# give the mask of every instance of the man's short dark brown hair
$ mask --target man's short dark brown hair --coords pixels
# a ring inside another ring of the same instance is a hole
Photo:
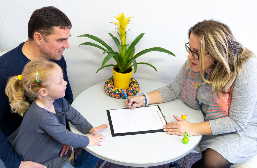
[[[33,35],[35,32],[39,32],[42,36],[53,34],[54,26],[58,26],[60,29],[71,29],[71,22],[69,18],[56,7],[46,6],[35,10],[30,16],[28,24],[29,40],[34,40]]]

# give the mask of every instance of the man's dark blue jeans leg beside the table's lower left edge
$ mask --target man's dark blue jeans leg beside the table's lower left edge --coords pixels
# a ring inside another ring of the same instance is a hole
[[[99,158],[91,155],[85,149],[82,149],[81,153],[78,155],[75,160],[74,167],[75,168],[95,168]]]

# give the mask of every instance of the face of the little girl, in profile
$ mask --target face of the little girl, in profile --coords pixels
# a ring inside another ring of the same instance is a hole
[[[65,90],[67,82],[63,80],[63,73],[61,67],[56,65],[52,70],[52,76],[49,79],[48,90],[48,99],[59,99],[65,96]]]

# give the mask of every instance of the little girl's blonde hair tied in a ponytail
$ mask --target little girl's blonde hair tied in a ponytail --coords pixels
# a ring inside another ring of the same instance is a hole
[[[25,95],[29,97],[30,101],[41,98],[38,91],[47,86],[48,79],[56,65],[55,62],[46,59],[34,59],[25,65],[21,74],[22,80],[19,80],[18,76],[8,79],[5,94],[9,98],[12,112],[23,117],[30,106],[30,103],[25,99]],[[36,71],[38,71],[40,82],[36,81]]]

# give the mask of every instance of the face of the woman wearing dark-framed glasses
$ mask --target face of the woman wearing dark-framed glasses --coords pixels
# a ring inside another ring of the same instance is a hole
[[[197,54],[200,54],[200,52],[199,52],[200,41],[199,41],[199,38],[195,34],[191,33],[188,44],[192,51],[196,52]],[[211,56],[210,56],[210,54],[207,54],[207,53],[208,53],[207,51],[204,52],[204,54],[206,54],[204,56],[204,69],[208,69],[209,67],[211,67],[213,65]],[[192,52],[190,52],[188,54],[187,58],[191,61],[192,70],[194,72],[199,72],[200,71],[200,56],[199,56],[199,59],[197,60],[192,56]]]

